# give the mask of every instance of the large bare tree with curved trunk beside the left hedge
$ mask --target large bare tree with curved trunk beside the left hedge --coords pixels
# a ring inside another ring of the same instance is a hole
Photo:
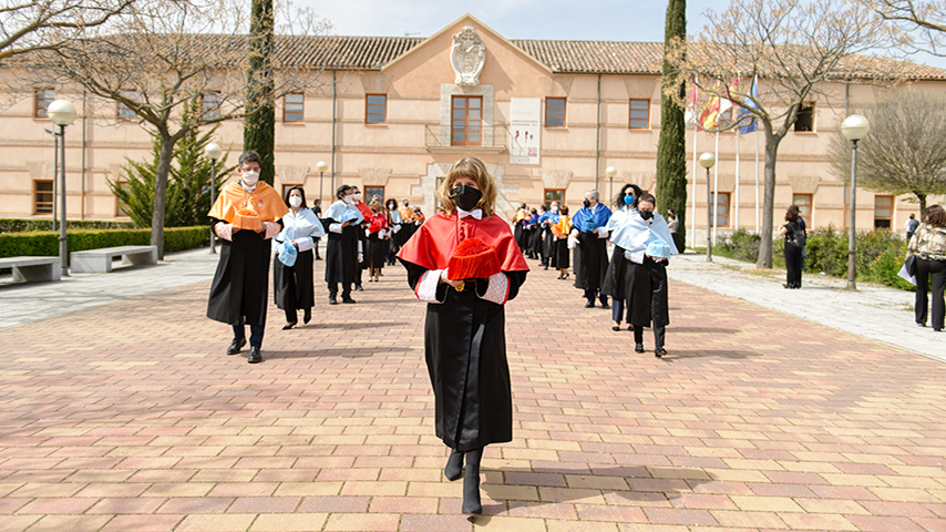
[[[202,3],[203,2],[203,3]],[[155,178],[151,243],[164,256],[167,176],[174,146],[188,132],[225,120],[243,119],[247,86],[265,88],[269,98],[302,92],[320,83],[318,51],[307,38],[329,24],[306,11],[284,12],[291,24],[273,51],[274,69],[247,78],[250,60],[248,18],[238,0],[138,0],[123,16],[123,32],[80,41],[39,54],[28,65],[45,79],[78,84],[117,102],[124,116],[157,132],[161,139]],[[224,31],[225,30],[225,31]],[[297,34],[287,34],[295,30]],[[306,47],[306,44],[309,47]],[[302,52],[316,50],[316,57]],[[183,113],[188,101],[205,112]]]

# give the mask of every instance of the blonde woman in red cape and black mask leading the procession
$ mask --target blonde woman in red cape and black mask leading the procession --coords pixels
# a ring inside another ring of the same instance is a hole
[[[465,514],[483,511],[483,449],[513,436],[503,305],[518,294],[528,266],[508,224],[493,212],[496,188],[482,161],[461,158],[436,191],[444,212],[398,254],[414,294],[428,303],[424,355],[436,436],[451,449],[443,473],[463,475]]]

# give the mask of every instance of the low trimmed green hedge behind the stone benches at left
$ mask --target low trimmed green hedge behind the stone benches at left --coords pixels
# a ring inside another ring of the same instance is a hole
[[[200,247],[209,242],[210,228],[205,225],[164,229],[165,253]],[[70,253],[102,247],[146,246],[151,244],[151,229],[70,229],[66,244]],[[58,256],[59,233],[34,231],[0,234],[0,258],[23,255]]]

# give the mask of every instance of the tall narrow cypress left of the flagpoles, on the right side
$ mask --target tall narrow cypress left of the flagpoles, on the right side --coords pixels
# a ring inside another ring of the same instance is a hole
[[[664,75],[661,89],[673,86],[677,73],[667,60],[673,38],[687,39],[687,0],[670,0],[664,27]],[[687,129],[683,110],[660,91],[660,139],[657,144],[657,202],[659,211],[672,208],[677,215],[677,239],[687,242]],[[686,83],[680,84],[680,98]]]

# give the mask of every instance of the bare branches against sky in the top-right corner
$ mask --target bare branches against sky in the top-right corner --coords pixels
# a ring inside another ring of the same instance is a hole
[[[942,0],[861,0],[904,31],[905,49],[946,57],[946,3]]]

